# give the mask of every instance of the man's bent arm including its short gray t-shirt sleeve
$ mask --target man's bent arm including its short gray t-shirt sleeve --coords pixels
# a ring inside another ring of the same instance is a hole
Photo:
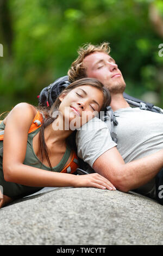
[[[108,126],[94,118],[77,132],[78,156],[118,190],[134,190],[154,178],[163,167],[163,149],[125,163],[112,141]]]

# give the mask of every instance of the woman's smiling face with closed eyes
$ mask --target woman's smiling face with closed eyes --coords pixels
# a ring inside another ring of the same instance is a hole
[[[74,124],[75,128],[95,117],[103,105],[103,93],[92,86],[79,86],[68,93],[63,93],[59,99],[59,112],[64,120],[68,124]]]

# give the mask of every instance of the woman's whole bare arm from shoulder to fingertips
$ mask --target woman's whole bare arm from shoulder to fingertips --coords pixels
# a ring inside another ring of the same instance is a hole
[[[25,164],[28,131],[36,110],[28,103],[20,103],[12,109],[5,120],[3,142],[4,179],[35,187],[98,187],[112,189],[114,186],[99,174],[73,175],[48,172]],[[111,188],[110,188],[111,187]]]

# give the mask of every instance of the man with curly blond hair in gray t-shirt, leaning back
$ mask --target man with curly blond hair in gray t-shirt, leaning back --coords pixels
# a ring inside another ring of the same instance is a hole
[[[163,115],[129,106],[123,97],[126,83],[109,52],[108,43],[86,45],[68,70],[70,82],[93,77],[110,90],[110,106],[118,122],[117,144],[110,136],[110,120],[104,123],[94,118],[93,127],[99,121],[100,127],[91,129],[89,122],[87,129],[78,131],[78,156],[118,190],[156,198],[155,176],[163,167]]]

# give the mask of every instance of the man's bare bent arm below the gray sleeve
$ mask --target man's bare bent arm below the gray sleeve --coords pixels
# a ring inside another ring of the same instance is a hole
[[[98,157],[93,169],[123,192],[134,190],[154,178],[163,167],[163,150],[129,163],[124,163],[117,148]]]

